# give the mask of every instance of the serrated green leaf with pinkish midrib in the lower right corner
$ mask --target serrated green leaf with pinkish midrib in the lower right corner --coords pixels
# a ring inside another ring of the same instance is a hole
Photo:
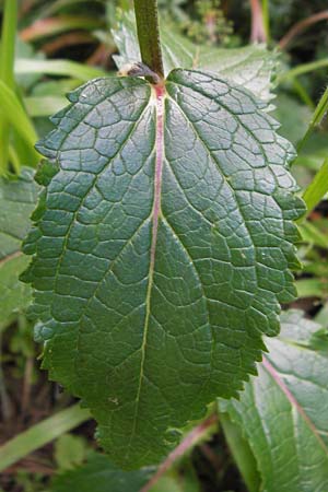
[[[249,441],[263,492],[328,490],[328,352],[319,326],[298,311],[284,313],[281,333],[241,399],[220,400]]]

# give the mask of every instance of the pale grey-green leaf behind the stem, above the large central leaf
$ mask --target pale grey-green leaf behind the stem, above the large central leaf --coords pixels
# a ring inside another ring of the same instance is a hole
[[[134,15],[121,14],[117,30],[113,30],[119,55],[114,56],[117,67],[141,60]],[[197,46],[172,28],[161,30],[162,51],[165,73],[176,68],[203,69],[224,77],[232,83],[243,85],[263,101],[270,101],[270,80],[277,55],[269,52],[265,45],[243,48],[210,48]]]

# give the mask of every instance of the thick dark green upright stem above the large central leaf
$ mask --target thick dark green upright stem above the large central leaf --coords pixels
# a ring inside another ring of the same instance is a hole
[[[156,0],[134,0],[141,60],[160,78],[164,77]]]

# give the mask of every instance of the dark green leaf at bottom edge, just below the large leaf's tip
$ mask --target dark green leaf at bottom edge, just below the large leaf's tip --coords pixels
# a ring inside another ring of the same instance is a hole
[[[106,456],[92,453],[85,465],[55,477],[51,492],[139,492],[149,476],[148,470],[121,471]]]

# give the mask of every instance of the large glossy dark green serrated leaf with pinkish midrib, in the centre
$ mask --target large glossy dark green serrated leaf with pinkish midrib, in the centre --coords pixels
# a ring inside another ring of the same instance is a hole
[[[279,330],[304,211],[294,152],[263,103],[198,71],[98,79],[70,101],[38,145],[52,167],[25,280],[44,367],[91,408],[113,460],[141,467],[236,395]]]

